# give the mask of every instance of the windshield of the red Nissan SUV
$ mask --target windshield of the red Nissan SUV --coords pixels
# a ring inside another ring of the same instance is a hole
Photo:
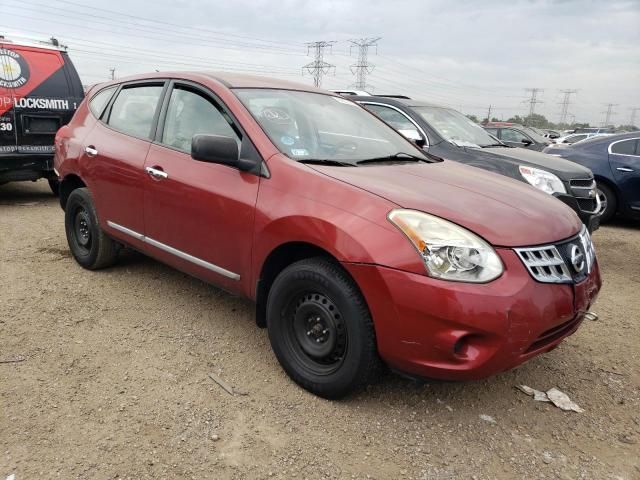
[[[264,88],[234,92],[273,144],[294,160],[346,166],[384,158],[430,161],[391,127],[345,98]]]

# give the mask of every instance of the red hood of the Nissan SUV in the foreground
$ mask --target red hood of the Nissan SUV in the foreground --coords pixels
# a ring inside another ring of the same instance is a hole
[[[582,226],[573,210],[551,195],[502,175],[448,160],[312,168],[402,208],[462,225],[496,246],[552,243],[577,234]]]

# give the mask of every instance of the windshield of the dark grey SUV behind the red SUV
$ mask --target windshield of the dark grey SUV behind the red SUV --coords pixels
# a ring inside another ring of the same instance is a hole
[[[499,144],[480,125],[460,112],[443,107],[412,107],[445,140],[460,147],[486,147]]]

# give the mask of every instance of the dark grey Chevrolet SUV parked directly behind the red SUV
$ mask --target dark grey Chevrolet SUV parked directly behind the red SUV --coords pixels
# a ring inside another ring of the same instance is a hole
[[[509,147],[451,108],[406,97],[349,98],[419,143],[425,151],[531,184],[573,208],[591,231],[598,228],[596,184],[588,169],[539,152]]]

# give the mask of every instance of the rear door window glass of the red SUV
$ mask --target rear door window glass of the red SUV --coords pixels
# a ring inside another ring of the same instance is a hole
[[[150,139],[162,85],[141,85],[120,90],[107,124],[134,137]]]

